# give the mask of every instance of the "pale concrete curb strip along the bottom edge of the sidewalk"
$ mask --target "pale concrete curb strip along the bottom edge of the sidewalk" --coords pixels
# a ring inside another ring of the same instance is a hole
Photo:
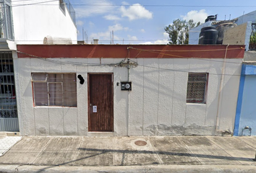
[[[9,172],[256,172],[256,166],[246,165],[159,165],[159,166],[124,166],[124,167],[59,167],[30,165],[1,165],[0,173]]]

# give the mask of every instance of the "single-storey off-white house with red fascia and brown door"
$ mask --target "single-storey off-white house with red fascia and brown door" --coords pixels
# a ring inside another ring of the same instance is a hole
[[[243,45],[17,45],[22,136],[233,132]]]

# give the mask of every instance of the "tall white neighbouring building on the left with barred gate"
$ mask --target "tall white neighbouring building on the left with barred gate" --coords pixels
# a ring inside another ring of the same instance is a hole
[[[69,1],[0,0],[0,131],[19,131],[12,58],[16,45],[77,44],[74,10],[65,3]]]

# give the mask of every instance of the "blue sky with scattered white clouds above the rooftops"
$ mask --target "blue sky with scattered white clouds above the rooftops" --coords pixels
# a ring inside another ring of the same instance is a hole
[[[114,44],[167,44],[164,28],[174,19],[205,22],[209,15],[216,14],[217,20],[234,19],[256,10],[255,0],[69,1],[76,12],[77,39],[88,40],[89,44],[93,39],[110,44],[112,31]]]

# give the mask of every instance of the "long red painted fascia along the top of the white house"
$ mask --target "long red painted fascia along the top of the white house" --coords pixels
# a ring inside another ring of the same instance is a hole
[[[18,58],[244,58],[244,45],[17,45],[17,53]]]

